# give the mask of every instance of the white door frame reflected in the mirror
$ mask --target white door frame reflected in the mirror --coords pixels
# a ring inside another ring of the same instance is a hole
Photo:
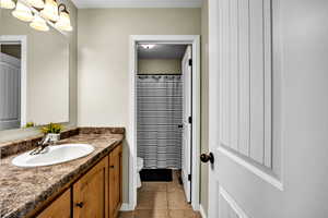
[[[26,125],[27,117],[27,36],[1,35],[0,44],[21,45],[21,128]]]

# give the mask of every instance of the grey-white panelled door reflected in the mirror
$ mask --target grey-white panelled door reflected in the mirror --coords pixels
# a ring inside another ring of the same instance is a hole
[[[0,130],[21,125],[21,60],[0,52]]]

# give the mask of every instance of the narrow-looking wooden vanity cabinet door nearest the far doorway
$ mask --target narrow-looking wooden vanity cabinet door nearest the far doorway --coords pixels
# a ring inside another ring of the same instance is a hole
[[[121,145],[109,154],[109,218],[116,218],[121,206]]]

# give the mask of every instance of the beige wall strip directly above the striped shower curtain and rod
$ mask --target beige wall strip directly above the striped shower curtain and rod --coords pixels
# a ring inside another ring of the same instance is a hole
[[[139,59],[138,73],[142,74],[180,74],[179,59]]]

